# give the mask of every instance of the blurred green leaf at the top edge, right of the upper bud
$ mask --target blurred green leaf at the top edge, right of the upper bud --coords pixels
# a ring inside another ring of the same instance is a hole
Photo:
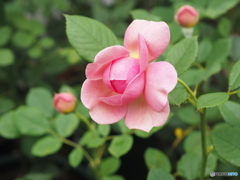
[[[226,13],[229,9],[233,8],[239,1],[238,0],[211,0],[208,1],[208,7],[205,10],[205,16],[216,19],[220,15]]]

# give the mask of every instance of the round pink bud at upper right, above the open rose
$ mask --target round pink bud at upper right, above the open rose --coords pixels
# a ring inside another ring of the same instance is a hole
[[[189,5],[180,7],[175,15],[175,21],[183,27],[192,27],[197,24],[199,14],[197,10]]]

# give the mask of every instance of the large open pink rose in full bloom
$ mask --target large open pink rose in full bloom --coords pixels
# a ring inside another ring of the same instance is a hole
[[[168,62],[151,62],[167,48],[165,22],[133,21],[123,46],[100,51],[86,68],[81,99],[99,124],[125,119],[130,129],[149,132],[169,115],[168,93],[177,83],[177,72]]]

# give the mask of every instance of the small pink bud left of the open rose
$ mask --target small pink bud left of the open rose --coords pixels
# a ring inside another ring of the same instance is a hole
[[[53,105],[60,113],[69,113],[74,111],[76,106],[76,97],[68,92],[55,94]]]

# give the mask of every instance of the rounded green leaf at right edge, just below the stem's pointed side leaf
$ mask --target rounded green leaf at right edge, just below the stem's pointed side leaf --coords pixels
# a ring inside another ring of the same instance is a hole
[[[223,119],[231,126],[240,127],[240,104],[227,101],[219,107]]]

